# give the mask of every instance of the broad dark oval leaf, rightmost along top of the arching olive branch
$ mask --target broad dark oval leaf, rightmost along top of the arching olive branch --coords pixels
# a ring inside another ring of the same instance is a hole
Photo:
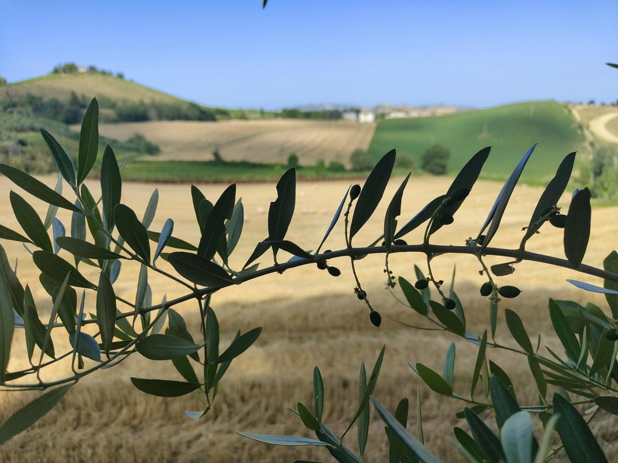
[[[590,238],[590,213],[590,191],[584,188],[571,199],[564,224],[564,254],[574,267],[582,263],[586,253]]]

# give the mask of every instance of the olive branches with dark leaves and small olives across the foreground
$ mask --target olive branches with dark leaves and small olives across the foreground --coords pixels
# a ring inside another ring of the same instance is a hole
[[[242,269],[234,270],[229,265],[229,256],[234,252],[243,230],[243,206],[240,199],[236,199],[236,186],[228,186],[214,202],[206,199],[197,187],[192,186],[192,204],[201,231],[197,245],[178,237],[172,219],[167,219],[160,231],[150,230],[156,214],[158,190],[153,192],[140,219],[135,211],[122,202],[121,171],[124,165],[118,164],[110,146],[104,149],[101,161],[101,198],[96,199],[83,183],[98,158],[97,123],[98,105],[93,100],[82,122],[77,165],[61,144],[48,131],[41,129],[41,136],[59,171],[59,180],[54,189],[25,172],[0,164],[0,173],[49,205],[46,217],[41,220],[26,199],[11,191],[9,200],[24,234],[0,225],[0,238],[21,241],[32,252],[32,259],[41,272],[40,284],[53,303],[51,315],[43,323],[32,297],[32,282],[25,286],[20,282],[17,262],[11,265],[4,248],[0,246],[0,385],[6,391],[46,390],[0,426],[0,443],[9,440],[49,412],[82,377],[99,369],[114,367],[136,352],[152,361],[171,361],[184,381],[136,377],[131,378],[133,385],[143,393],[155,396],[197,394],[203,407],[198,411],[187,411],[186,415],[190,419],[199,419],[211,409],[216,396],[222,393],[219,391],[221,381],[231,362],[250,348],[261,333],[261,327],[246,333],[239,331],[231,344],[221,346],[219,322],[211,306],[214,293],[253,278],[282,273],[301,265],[316,265],[320,270],[327,270],[332,277],[339,277],[341,270],[331,264],[332,259],[349,257],[355,280],[355,297],[365,302],[370,322],[379,327],[382,316],[371,304],[368,293],[363,290],[356,265],[368,254],[384,254],[387,289],[397,297],[394,290],[399,285],[405,299],[402,303],[410,307],[410,313],[425,324],[402,323],[411,329],[440,330],[478,346],[469,394],[468,391],[459,390],[459,383],[458,391],[455,392],[455,344],[447,349],[442,375],[421,362],[409,364],[412,372],[431,390],[464,403],[464,409],[457,416],[465,419],[469,432],[455,427],[452,441],[468,461],[540,463],[548,461],[564,448],[567,457],[573,462],[607,462],[588,424],[598,414],[618,414],[618,254],[613,251],[607,256],[604,269],[582,264],[590,235],[590,191],[587,188],[574,192],[567,214],[563,214],[557,207],[557,201],[564,193],[572,173],[575,153],[564,158],[541,195],[528,226],[523,229],[525,233],[518,249],[491,248],[489,244],[499,230],[510,196],[535,146],[524,154],[507,179],[478,235],[465,240],[462,246],[438,246],[430,240],[433,233],[454,222],[455,213],[470,194],[488,159],[489,148],[481,149],[468,161],[446,193],[430,201],[404,225],[399,225],[397,218],[410,179],[408,173],[389,202],[384,216],[383,235],[369,246],[354,247],[353,240],[374,215],[391,178],[396,164],[396,152],[388,152],[375,165],[362,188],[360,185],[352,185],[345,191],[315,252],[306,251],[304,247],[286,240],[295,210],[296,173],[291,168],[277,183],[277,199],[271,202],[268,211],[268,236],[256,244]],[[62,196],[65,185],[74,193],[74,202]],[[59,207],[72,211],[70,227],[65,227],[56,218]],[[345,248],[321,252],[342,216]],[[567,259],[525,250],[527,241],[546,222],[564,228],[564,252]],[[407,244],[404,236],[421,225],[425,225],[423,242]],[[67,228],[70,230],[68,235]],[[52,238],[49,236],[50,229]],[[156,246],[151,246],[151,241]],[[59,254],[61,250],[63,255],[68,253],[71,256],[69,260]],[[267,251],[272,252],[274,265],[259,269],[259,264],[255,262]],[[291,254],[291,257],[282,261],[281,251]],[[425,254],[427,274],[415,265],[415,283],[408,282],[403,276],[395,277],[389,267],[389,255],[393,252]],[[454,291],[455,271],[448,293],[444,291],[444,282],[433,273],[432,260],[448,253],[475,257],[481,274],[488,279],[480,288],[481,297],[488,298],[489,302],[489,328],[483,330],[483,333],[468,330],[464,307]],[[493,265],[490,269],[484,261],[487,255],[504,256],[512,260]],[[167,261],[175,273],[167,272],[164,265],[159,265],[161,259]],[[127,261],[140,264],[134,301],[120,298],[114,291],[122,262]],[[510,335],[519,348],[497,343],[494,335],[497,318],[501,314],[499,302],[501,298],[517,297],[520,290],[499,284],[496,277],[510,275],[522,261],[543,262],[603,278],[603,287],[577,280],[569,282],[582,290],[606,294],[612,317],[605,315],[594,304],[583,307],[570,301],[549,299],[549,317],[564,352],[553,352],[547,348],[549,356],[544,354],[541,351],[540,336],[535,347],[522,320],[516,312],[509,310],[504,311],[504,317]],[[97,284],[83,276],[91,272],[83,269],[90,267],[99,273]],[[149,275],[153,272],[185,286],[187,294],[170,301],[164,298],[160,303],[153,302],[148,284]],[[437,296],[431,293],[430,285]],[[85,307],[87,291],[96,295],[93,309]],[[200,317],[199,333],[188,332],[183,317],[173,309],[176,304],[185,301],[194,301],[196,304],[196,315]],[[128,307],[128,310],[121,311],[122,307]],[[95,335],[87,333],[85,327],[88,325],[94,325],[98,332]],[[25,346],[12,343],[15,330],[21,329],[25,330]],[[66,330],[72,346],[70,351],[56,351],[51,336],[54,329],[61,332]],[[7,366],[11,354],[19,348],[25,349],[32,366],[9,371]],[[488,359],[488,349],[504,349],[527,361],[538,388],[536,403],[520,404],[509,375]],[[360,463],[365,454],[370,405],[373,404],[386,424],[390,462],[439,462],[438,457],[423,443],[420,396],[417,396],[416,403],[415,435],[407,430],[407,398],[402,399],[394,414],[391,414],[374,397],[385,352],[386,348],[383,347],[369,376],[365,365],[361,365],[358,407],[341,435],[332,432],[323,421],[326,406],[324,381],[318,367],[313,371],[313,403],[310,406],[298,403],[297,409],[292,410],[292,414],[302,420],[305,427],[315,432],[316,439],[248,432],[239,432],[240,435],[267,444],[315,445],[324,448],[339,462]],[[72,374],[66,378],[44,381],[42,373],[46,367],[63,359],[70,359]],[[27,377],[32,375],[35,375],[36,381],[28,383]],[[576,408],[580,405],[587,407],[584,416]],[[487,414],[494,415],[499,434],[486,424]],[[533,419],[543,423],[544,433],[540,440],[533,434]],[[357,429],[358,451],[344,444],[345,436],[354,425]],[[554,430],[562,443],[551,448]]]

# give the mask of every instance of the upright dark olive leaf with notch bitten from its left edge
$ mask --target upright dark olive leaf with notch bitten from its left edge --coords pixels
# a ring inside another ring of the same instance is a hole
[[[268,209],[268,241],[282,241],[286,237],[287,228],[292,222],[296,204],[296,169],[284,173],[277,182],[277,199],[271,202]],[[276,256],[277,247],[273,246]]]

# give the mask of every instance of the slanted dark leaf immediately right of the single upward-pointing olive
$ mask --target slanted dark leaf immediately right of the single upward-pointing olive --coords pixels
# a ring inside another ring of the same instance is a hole
[[[363,189],[358,196],[352,223],[350,224],[350,241],[358,233],[363,225],[369,220],[373,212],[378,207],[380,199],[384,194],[389,178],[391,178],[392,167],[395,164],[396,152],[394,149],[384,154],[378,164],[371,170],[369,177],[363,185]]]

